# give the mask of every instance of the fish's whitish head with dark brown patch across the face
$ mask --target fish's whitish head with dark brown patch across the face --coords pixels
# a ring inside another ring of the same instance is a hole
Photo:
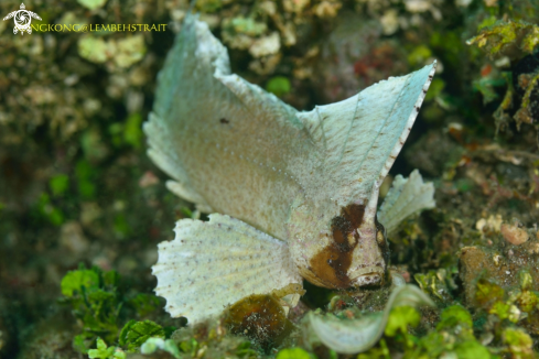
[[[327,289],[384,284],[389,250],[384,226],[362,204],[341,207],[333,216],[313,216],[309,206],[297,208],[289,235],[300,274]]]

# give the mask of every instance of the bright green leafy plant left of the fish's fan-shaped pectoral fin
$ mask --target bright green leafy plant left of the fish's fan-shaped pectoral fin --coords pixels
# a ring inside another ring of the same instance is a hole
[[[121,350],[136,351],[148,338],[165,338],[175,329],[163,328],[151,320],[126,320],[128,315],[141,318],[150,314],[160,306],[160,301],[149,294],[126,296],[119,284],[120,276],[116,271],[84,265],[62,280],[64,296],[61,302],[72,307],[82,326],[82,333],[73,339],[73,347],[90,358],[120,359]],[[120,330],[122,322],[127,324]],[[97,349],[91,350],[94,344]],[[118,350],[111,346],[115,344]]]

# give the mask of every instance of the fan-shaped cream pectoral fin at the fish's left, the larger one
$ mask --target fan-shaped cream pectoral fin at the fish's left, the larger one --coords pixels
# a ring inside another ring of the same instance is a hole
[[[235,302],[300,283],[288,244],[238,219],[182,219],[173,241],[159,244],[155,293],[166,311],[191,324],[218,315]]]

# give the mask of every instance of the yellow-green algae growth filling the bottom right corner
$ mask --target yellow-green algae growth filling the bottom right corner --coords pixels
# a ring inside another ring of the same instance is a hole
[[[388,350],[400,348],[402,358],[528,358],[539,327],[539,296],[531,291],[531,275],[518,273],[520,289],[506,293],[499,285],[481,279],[476,283],[476,313],[460,304],[443,309],[425,335],[410,330],[428,316],[409,306],[391,311],[385,336],[358,359],[390,358]],[[481,334],[481,335],[478,335]]]

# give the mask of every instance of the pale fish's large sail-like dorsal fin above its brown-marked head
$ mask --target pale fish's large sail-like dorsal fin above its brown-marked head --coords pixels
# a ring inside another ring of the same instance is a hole
[[[344,101],[298,112],[233,75],[226,48],[188,15],[159,75],[150,155],[201,208],[235,216],[284,239],[294,200],[333,216],[364,204],[402,148],[434,64]]]

